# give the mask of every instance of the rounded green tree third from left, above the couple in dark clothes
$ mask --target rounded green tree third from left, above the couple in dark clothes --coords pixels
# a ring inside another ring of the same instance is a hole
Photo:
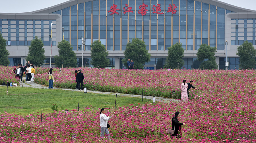
[[[55,66],[56,67],[62,67],[63,68],[74,68],[77,66],[77,56],[76,53],[72,50],[71,44],[69,41],[66,41],[65,39],[60,41],[58,43],[59,48],[59,56],[55,55]]]

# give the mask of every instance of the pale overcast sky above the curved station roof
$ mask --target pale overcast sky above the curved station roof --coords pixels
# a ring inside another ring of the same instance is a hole
[[[21,13],[51,7],[67,0],[0,0],[0,13]],[[245,9],[256,10],[255,0],[219,0]]]

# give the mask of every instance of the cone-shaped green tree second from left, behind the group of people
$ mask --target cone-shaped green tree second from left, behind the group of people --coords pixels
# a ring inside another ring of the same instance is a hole
[[[30,46],[28,47],[28,56],[25,58],[26,61],[30,61],[35,66],[41,66],[44,64],[45,60],[45,51],[44,51],[43,41],[37,38],[31,41]]]

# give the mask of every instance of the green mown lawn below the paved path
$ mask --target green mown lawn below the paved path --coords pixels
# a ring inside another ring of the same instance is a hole
[[[110,108],[115,106],[115,95],[84,93],[78,91],[67,91],[61,89],[36,89],[27,87],[0,87],[0,112],[15,113],[17,115],[28,115],[32,113],[53,112],[53,104],[58,110],[84,109],[87,107]],[[152,100],[144,99],[144,103]],[[142,103],[142,98],[126,97],[117,94],[117,107],[127,104]],[[62,108],[61,108],[62,107]]]

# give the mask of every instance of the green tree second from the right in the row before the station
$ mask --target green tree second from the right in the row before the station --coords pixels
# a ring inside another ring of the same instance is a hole
[[[199,69],[217,69],[218,65],[215,61],[214,56],[216,52],[216,47],[210,47],[209,45],[202,44],[197,51],[197,58],[199,61],[203,61]],[[205,61],[204,61],[205,60]]]

